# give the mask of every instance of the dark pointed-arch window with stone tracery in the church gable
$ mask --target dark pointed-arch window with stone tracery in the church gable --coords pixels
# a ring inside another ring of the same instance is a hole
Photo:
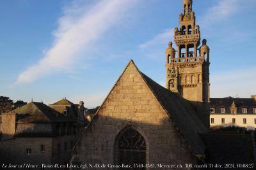
[[[145,167],[133,167],[133,164],[146,163],[146,150],[147,145],[140,132],[132,127],[124,129],[118,134],[115,141],[115,163],[130,164],[131,169],[145,169]]]

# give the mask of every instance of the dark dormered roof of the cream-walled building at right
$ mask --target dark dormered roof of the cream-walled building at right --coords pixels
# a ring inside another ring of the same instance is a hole
[[[253,98],[211,98],[210,105],[213,107],[230,107],[232,103],[236,104],[236,107],[255,107],[256,101]]]

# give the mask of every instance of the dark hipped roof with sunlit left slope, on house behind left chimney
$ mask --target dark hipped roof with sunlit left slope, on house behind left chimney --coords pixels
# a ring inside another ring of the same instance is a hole
[[[70,122],[70,119],[44,103],[31,102],[14,110],[17,123]]]

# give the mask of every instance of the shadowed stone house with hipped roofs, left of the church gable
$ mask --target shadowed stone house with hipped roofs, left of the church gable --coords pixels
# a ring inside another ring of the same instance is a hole
[[[67,103],[66,112],[56,111],[58,106]],[[71,149],[83,132],[84,109],[83,102],[73,104],[63,99],[51,107],[31,102],[10,113],[2,113],[0,162],[67,164]]]

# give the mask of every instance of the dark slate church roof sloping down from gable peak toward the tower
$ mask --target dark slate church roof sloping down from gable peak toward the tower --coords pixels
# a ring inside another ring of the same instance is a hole
[[[133,64],[136,67],[133,60],[130,60],[130,62],[125,67],[123,73],[120,75],[115,85],[110,90],[109,94],[111,94],[111,91],[115,88],[116,84],[118,83],[118,81],[125,73],[127,67],[129,67],[130,64]],[[188,142],[188,145],[191,146],[192,151],[195,154],[204,154],[204,142],[202,141],[198,133],[206,132],[207,128],[204,126],[204,124],[202,124],[199,117],[197,116],[195,109],[191,106],[189,101],[157,84],[155,81],[148,78],[148,76],[141,73],[138,67],[136,67],[136,70],[138,71],[138,73],[140,73],[141,77],[143,78],[151,92],[154,94],[157,101],[159,101],[161,106],[163,106],[163,109],[166,111],[170,119],[173,120],[173,123],[177,125],[177,129],[179,129],[180,134]],[[106,97],[106,99],[108,99],[108,96]],[[104,105],[106,99],[104,100],[100,108]],[[99,112],[99,110],[97,111],[97,113]],[[97,113],[95,114],[96,116]]]

